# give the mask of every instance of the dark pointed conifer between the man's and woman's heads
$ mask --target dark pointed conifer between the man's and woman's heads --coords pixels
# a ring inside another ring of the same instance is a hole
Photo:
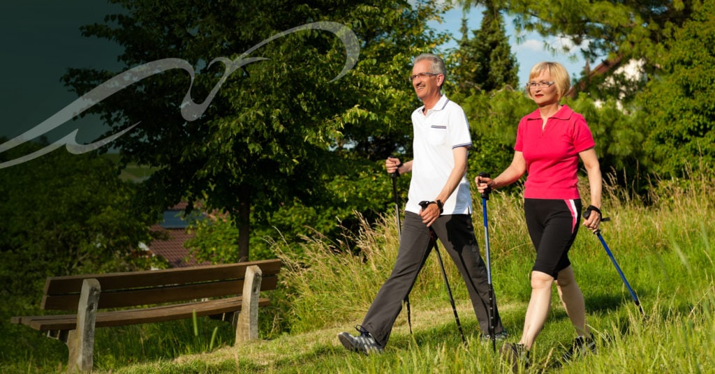
[[[468,38],[466,19],[462,20],[462,39],[453,52],[456,65],[453,80],[460,92],[468,93],[472,88],[490,92],[505,85],[518,86],[519,65],[511,53],[501,11],[493,1],[486,1],[485,6],[480,29],[473,31],[472,39]]]

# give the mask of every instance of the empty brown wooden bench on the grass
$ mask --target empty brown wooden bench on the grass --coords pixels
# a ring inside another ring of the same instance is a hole
[[[258,307],[275,290],[280,260],[230,265],[48,277],[41,308],[73,314],[11,318],[69,347],[68,371],[92,370],[94,328],[197,316],[237,325],[236,343],[258,338]],[[242,312],[242,313],[239,313]]]

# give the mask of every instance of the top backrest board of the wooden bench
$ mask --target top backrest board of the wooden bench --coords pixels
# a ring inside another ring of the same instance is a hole
[[[179,269],[142,270],[137,272],[111,272],[106,274],[67,275],[48,277],[44,293],[49,295],[79,292],[82,280],[94,278],[102,285],[102,292],[134,287],[159,287],[189,282],[242,279],[246,267],[258,265],[264,277],[277,275],[281,260],[260,260],[227,265],[182,267]]]

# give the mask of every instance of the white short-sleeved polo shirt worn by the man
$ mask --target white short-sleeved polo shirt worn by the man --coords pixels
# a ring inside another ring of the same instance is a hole
[[[432,109],[423,113],[419,107],[412,113],[414,127],[412,179],[405,210],[419,213],[419,203],[434,200],[447,184],[454,168],[453,149],[472,147],[469,123],[462,107],[445,95]],[[444,215],[471,214],[472,198],[467,175],[444,202]]]

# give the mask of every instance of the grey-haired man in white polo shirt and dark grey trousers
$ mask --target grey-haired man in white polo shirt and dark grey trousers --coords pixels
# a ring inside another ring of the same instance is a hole
[[[437,237],[460,271],[483,338],[488,338],[490,289],[474,236],[472,201],[466,178],[472,141],[462,108],[441,93],[445,78],[445,64],[440,57],[420,54],[415,58],[410,80],[424,104],[412,114],[415,157],[405,163],[395,158],[385,161],[390,174],[412,172],[398,257],[363,324],[357,327],[360,335],[338,335],[340,343],[349,350],[365,354],[383,352],[402,310],[402,301],[412,290],[430,255],[432,240]],[[506,331],[496,307],[494,314],[495,338],[502,340],[506,338]]]

